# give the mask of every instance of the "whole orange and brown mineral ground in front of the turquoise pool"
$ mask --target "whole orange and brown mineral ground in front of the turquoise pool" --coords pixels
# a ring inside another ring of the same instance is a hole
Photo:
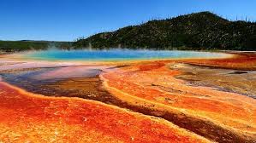
[[[3,64],[0,72],[15,69],[9,77],[21,71],[24,76],[40,67],[36,63],[16,64],[18,67]],[[66,64],[33,76],[28,74],[42,83],[54,77],[62,79],[46,85],[33,84],[33,88],[25,86],[29,91],[40,94],[42,90],[34,89],[50,88],[50,92],[42,93],[67,97],[44,97],[0,82],[0,141],[255,142],[255,54],[107,66]],[[95,76],[98,71],[101,73]],[[21,79],[15,78],[17,86],[22,84]]]

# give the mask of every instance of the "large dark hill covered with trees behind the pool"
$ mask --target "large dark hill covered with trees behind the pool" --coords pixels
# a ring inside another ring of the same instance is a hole
[[[98,33],[77,40],[74,47],[256,50],[256,23],[200,12]]]

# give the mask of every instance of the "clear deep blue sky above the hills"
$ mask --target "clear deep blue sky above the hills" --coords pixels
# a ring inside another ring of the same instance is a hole
[[[0,0],[0,40],[74,41],[200,11],[256,20],[255,8],[256,0]]]

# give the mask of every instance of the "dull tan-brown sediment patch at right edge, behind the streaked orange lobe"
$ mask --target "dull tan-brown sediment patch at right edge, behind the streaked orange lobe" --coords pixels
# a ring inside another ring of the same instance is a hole
[[[176,76],[193,86],[208,86],[256,98],[256,72],[214,69],[186,64],[170,66],[182,74]]]

